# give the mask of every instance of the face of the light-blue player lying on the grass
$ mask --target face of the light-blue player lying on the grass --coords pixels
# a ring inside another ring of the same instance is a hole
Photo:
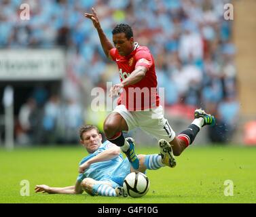
[[[81,144],[86,148],[88,153],[94,153],[94,151],[98,150],[101,145],[102,136],[98,134],[95,129],[89,130],[88,132],[84,132],[83,140],[80,140]]]

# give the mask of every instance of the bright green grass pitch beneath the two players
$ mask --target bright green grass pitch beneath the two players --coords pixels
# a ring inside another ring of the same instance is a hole
[[[158,149],[137,146],[136,153]],[[81,146],[0,149],[0,203],[256,203],[256,147],[242,146],[189,147],[174,169],[148,170],[150,189],[139,199],[34,193],[35,184],[73,185],[84,155]],[[22,180],[29,196],[20,195]],[[234,183],[233,196],[224,195],[225,180]]]

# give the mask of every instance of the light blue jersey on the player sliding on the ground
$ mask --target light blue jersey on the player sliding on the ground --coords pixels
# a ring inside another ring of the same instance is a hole
[[[102,153],[103,151],[109,149],[110,147],[115,146],[115,144],[105,141],[97,151],[94,153],[91,153],[87,157],[84,157],[79,165],[82,163],[88,161],[88,159],[91,159],[92,157]],[[93,178],[94,180],[104,180],[104,179],[112,179],[113,171],[116,170],[117,167],[120,167],[120,165],[123,163],[123,157],[122,154],[118,155],[117,157],[109,160],[109,161],[100,161],[98,163],[92,163],[90,167],[88,167],[84,174],[79,174],[77,176],[77,180],[80,182],[84,180],[84,178]],[[130,168],[129,168],[130,170]]]

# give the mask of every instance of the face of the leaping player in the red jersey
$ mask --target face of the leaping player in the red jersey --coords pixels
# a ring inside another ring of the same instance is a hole
[[[133,37],[126,38],[125,33],[113,35],[113,43],[121,56],[128,56],[133,51]]]

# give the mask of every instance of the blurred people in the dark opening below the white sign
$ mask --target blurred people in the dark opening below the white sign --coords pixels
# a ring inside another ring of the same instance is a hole
[[[43,89],[39,92],[46,94]],[[77,143],[78,129],[84,123],[81,106],[71,98],[61,102],[57,95],[50,96],[42,106],[38,102],[38,96],[31,96],[21,106],[16,141],[19,144]]]

